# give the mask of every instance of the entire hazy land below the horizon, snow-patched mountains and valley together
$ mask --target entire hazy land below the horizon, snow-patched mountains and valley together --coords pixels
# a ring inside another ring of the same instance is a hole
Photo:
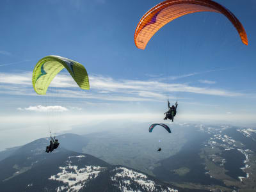
[[[255,129],[172,124],[172,134],[156,129],[58,139],[60,147],[49,154],[48,138],[0,152],[0,191],[256,190]]]

